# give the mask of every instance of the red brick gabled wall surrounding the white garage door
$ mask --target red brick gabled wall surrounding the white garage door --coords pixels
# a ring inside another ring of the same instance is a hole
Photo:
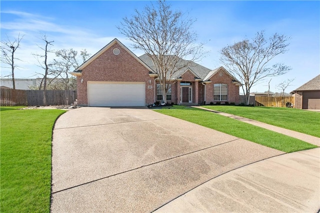
[[[120,49],[119,55],[112,53],[115,47]],[[154,102],[154,78],[149,77],[149,71],[118,43],[83,68],[82,76],[77,76],[79,105],[87,105],[88,81],[145,82],[145,104]],[[152,89],[148,89],[148,86],[152,86]]]

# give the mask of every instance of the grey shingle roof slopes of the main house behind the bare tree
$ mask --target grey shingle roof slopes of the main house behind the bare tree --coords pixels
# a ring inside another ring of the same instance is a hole
[[[153,65],[153,62],[151,60],[151,58],[147,55],[147,54],[143,54],[139,57],[144,63],[146,63],[151,69],[155,70],[155,67]],[[188,60],[184,60],[182,58],[179,58],[179,62],[177,63],[177,65],[181,65],[182,67],[184,65],[187,65],[185,67],[183,67],[181,70],[175,72],[172,75],[172,78],[179,78],[182,74],[184,74],[186,71],[190,71],[192,72],[195,77],[198,77],[200,79],[203,79],[211,70],[201,66],[200,64],[197,64],[193,61],[188,61]]]

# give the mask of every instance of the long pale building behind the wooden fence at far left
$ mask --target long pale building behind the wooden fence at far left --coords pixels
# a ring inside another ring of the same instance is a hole
[[[23,89],[28,90],[30,86],[39,85],[41,82],[40,78],[15,78],[14,84],[15,89]],[[13,89],[12,78],[1,78],[0,86],[8,87],[9,89]]]

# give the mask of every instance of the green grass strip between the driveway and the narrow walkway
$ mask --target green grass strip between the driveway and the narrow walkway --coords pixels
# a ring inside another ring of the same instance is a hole
[[[175,105],[170,109],[154,111],[287,153],[317,147],[289,136],[201,109]]]

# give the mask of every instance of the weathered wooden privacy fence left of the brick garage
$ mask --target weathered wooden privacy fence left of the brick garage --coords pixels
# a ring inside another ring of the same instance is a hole
[[[71,105],[75,90],[46,90],[46,105]],[[43,106],[43,90],[0,89],[0,106]]]

